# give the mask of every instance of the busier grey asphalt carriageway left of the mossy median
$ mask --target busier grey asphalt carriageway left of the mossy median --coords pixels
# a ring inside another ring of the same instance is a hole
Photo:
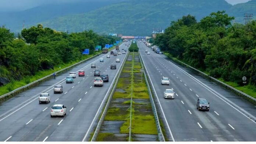
[[[128,50],[124,44],[120,45]],[[115,50],[113,50],[115,51]],[[68,72],[57,75],[56,79],[47,80],[36,87],[28,89],[0,105],[0,141],[82,141],[89,140],[90,133],[97,124],[98,116],[107,99],[106,93],[126,54],[117,56],[101,54],[83,64],[70,69]],[[99,62],[104,58],[104,62]],[[120,63],[115,62],[120,58]],[[96,68],[90,64],[96,63]],[[114,63],[117,69],[110,69]],[[109,75],[109,82],[104,82],[103,87],[94,87],[95,78],[93,70],[99,69],[101,74]],[[65,83],[69,72],[85,71],[84,77],[74,79],[74,83]],[[53,86],[61,84],[62,94],[54,94]],[[39,104],[38,95],[49,93],[51,102]],[[50,110],[54,104],[64,104],[67,115],[50,117]]]

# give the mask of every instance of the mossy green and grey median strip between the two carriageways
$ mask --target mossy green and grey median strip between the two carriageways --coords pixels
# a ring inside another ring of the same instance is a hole
[[[129,141],[130,120],[131,141],[158,140],[156,122],[141,68],[138,52],[130,52],[97,141]]]

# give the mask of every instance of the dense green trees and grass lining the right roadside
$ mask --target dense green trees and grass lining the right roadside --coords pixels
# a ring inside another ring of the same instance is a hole
[[[154,44],[177,58],[256,98],[256,21],[232,22],[225,11],[213,12],[199,22],[187,15],[171,22]],[[246,76],[246,86],[242,77]]]

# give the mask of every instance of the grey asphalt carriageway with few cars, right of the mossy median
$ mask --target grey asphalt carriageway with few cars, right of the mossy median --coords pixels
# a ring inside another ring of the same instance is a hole
[[[144,43],[137,44],[169,141],[256,141],[254,105],[154,53]],[[170,79],[170,86],[161,85],[163,76]],[[166,89],[174,90],[175,99],[164,99]],[[210,102],[209,112],[196,109],[199,97]]]

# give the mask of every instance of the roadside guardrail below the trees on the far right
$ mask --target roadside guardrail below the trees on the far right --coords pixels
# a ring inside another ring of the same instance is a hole
[[[218,82],[218,83],[220,83],[220,84],[223,84],[224,86],[228,87],[229,89],[234,90],[235,92],[241,94],[242,96],[245,96],[245,97],[247,97],[247,98],[249,98],[249,99],[251,99],[251,100],[253,100],[253,101],[256,102],[256,98],[253,98],[252,96],[249,96],[248,94],[243,93],[242,91],[240,91],[240,90],[238,90],[238,89],[235,89],[234,87],[232,87],[232,86],[230,86],[230,85],[228,85],[228,84],[226,84],[226,83],[224,83],[224,82],[221,82],[220,80],[218,80],[218,79],[216,79],[216,78],[213,78],[213,77],[207,75],[206,73],[201,72],[201,71],[199,71],[198,69],[193,68],[192,66],[185,64],[185,63],[182,62],[182,61],[179,61],[179,60],[177,60],[176,58],[171,57],[171,59],[174,60],[174,61],[178,61],[179,63],[181,63],[181,64],[183,64],[183,65],[185,65],[185,66],[188,66],[189,68],[191,68],[191,69],[193,69],[193,70],[195,70],[195,71],[201,73],[202,75],[205,75],[206,77],[210,78],[211,80],[214,80],[214,81],[216,81],[216,82]]]

